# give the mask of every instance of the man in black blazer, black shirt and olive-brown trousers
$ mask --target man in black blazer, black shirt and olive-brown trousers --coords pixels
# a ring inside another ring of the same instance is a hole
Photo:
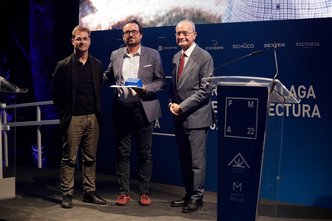
[[[88,54],[90,31],[76,26],[71,42],[74,53],[59,61],[53,73],[51,96],[60,111],[63,134],[61,190],[63,208],[72,208],[74,167],[80,142],[83,142],[83,202],[106,204],[95,186],[96,151],[101,126],[100,93],[103,64]]]

